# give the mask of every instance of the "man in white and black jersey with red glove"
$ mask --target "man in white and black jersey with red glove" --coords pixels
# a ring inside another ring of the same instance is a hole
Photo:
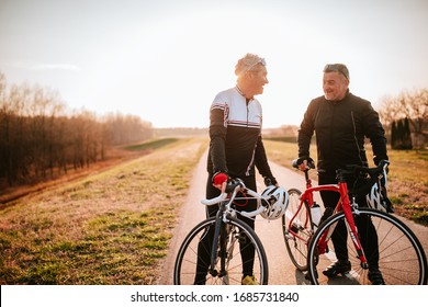
[[[261,138],[262,111],[255,95],[263,92],[268,83],[266,61],[258,55],[247,54],[235,67],[236,87],[219,92],[210,110],[210,152],[207,159],[209,180],[206,198],[218,196],[229,177],[241,179],[245,184],[256,191],[256,170],[267,182],[278,185],[272,175]],[[256,201],[240,206],[241,211],[255,211]],[[206,207],[207,217],[215,216],[216,206]],[[255,221],[240,216],[252,229]],[[212,229],[214,230],[214,229]],[[199,259],[210,259],[207,245],[212,234],[201,240]],[[254,248],[240,247],[244,272],[241,283],[257,284],[254,277]],[[195,284],[204,284],[210,261],[198,261]]]

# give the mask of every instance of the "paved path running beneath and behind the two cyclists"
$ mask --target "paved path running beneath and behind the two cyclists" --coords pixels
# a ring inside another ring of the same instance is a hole
[[[279,183],[285,189],[297,187],[304,190],[305,183],[301,173],[270,162],[272,172]],[[193,180],[189,190],[189,200],[181,208],[179,220],[174,229],[174,237],[171,239],[170,250],[162,268],[161,276],[157,281],[159,285],[172,284],[173,263],[177,251],[180,248],[185,235],[202,219],[205,218],[205,207],[200,203],[204,198],[206,183],[206,155],[202,157],[194,170]],[[315,182],[316,184],[316,182]],[[264,185],[258,179],[258,191],[262,191]],[[406,224],[417,234],[425,251],[428,250],[427,228],[412,221]],[[273,285],[303,285],[309,284],[303,274],[295,269],[286,252],[282,237],[281,219],[268,221],[258,216],[256,220],[256,231],[260,237],[269,263],[269,284]]]

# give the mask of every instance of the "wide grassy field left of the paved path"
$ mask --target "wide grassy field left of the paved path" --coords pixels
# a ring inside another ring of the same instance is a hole
[[[0,284],[153,284],[206,148],[205,139],[162,144],[153,155],[3,206]]]

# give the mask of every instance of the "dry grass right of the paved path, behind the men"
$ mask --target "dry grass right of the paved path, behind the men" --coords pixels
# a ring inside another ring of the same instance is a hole
[[[266,140],[269,159],[292,168],[291,161],[297,157],[295,143]],[[370,146],[368,146],[368,149]],[[311,155],[316,158],[316,146],[311,146]],[[368,150],[369,162],[372,152]],[[397,215],[416,223],[428,225],[428,151],[388,150],[391,161],[388,173],[388,197]],[[316,179],[316,172],[312,173]]]

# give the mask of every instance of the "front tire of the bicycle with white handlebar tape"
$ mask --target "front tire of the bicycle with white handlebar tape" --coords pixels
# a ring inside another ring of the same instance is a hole
[[[228,252],[226,253],[227,259],[223,259],[223,261],[226,261],[227,263],[227,274],[225,276],[214,276],[211,273],[207,273],[205,284],[240,285],[243,277],[243,260],[239,245],[243,240],[249,240],[255,247],[254,275],[260,284],[267,285],[269,277],[268,259],[264,248],[255,230],[235,217],[228,217],[226,226],[229,227],[229,239],[227,241]],[[194,284],[198,246],[202,237],[207,234],[210,227],[215,227],[215,217],[211,217],[198,224],[184,238],[176,258],[173,269],[174,285]],[[209,253],[211,254],[211,252]],[[222,259],[217,253],[217,264],[221,263],[221,261]]]

